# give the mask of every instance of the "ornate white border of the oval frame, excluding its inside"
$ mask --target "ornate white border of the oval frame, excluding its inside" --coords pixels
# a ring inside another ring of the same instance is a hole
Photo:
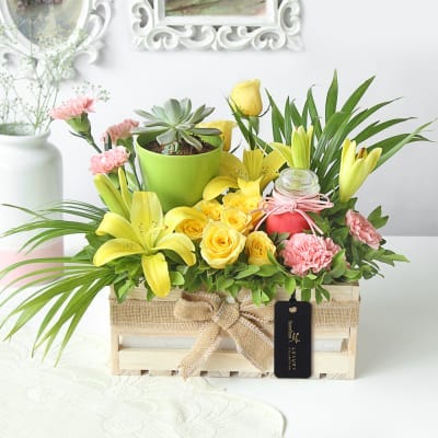
[[[0,23],[4,26],[10,41],[0,43],[0,56],[4,59],[8,55],[16,55],[20,51],[31,54],[38,60],[49,56],[50,53],[61,54],[71,57],[71,71],[68,77],[74,74],[73,62],[80,55],[85,55],[90,64],[99,58],[99,51],[103,47],[102,38],[112,19],[113,0],[81,0],[82,9],[76,27],[67,41],[53,47],[39,47],[31,43],[16,26],[11,16],[5,1],[0,2]],[[79,42],[79,43],[77,43]],[[71,54],[71,50],[74,50]]]

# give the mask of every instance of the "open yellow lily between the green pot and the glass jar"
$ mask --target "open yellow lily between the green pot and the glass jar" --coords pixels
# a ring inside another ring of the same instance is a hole
[[[238,180],[258,181],[260,191],[278,176],[278,169],[286,162],[278,151],[265,155],[260,149],[244,150],[243,161],[229,152],[222,152],[219,176],[204,188],[204,199],[214,199],[227,188],[239,188]]]

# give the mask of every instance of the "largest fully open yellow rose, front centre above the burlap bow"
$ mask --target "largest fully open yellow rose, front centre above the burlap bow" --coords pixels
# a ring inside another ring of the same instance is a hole
[[[215,269],[232,265],[245,247],[245,237],[222,222],[210,222],[200,241],[200,255]]]

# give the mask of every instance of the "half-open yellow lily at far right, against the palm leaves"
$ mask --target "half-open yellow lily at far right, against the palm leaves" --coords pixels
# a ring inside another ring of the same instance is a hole
[[[343,145],[339,170],[339,200],[346,203],[374,170],[382,153],[381,148],[370,153],[361,148],[356,154],[356,141],[346,139]]]

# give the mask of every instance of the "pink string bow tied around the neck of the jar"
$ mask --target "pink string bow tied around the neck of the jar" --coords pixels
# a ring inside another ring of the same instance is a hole
[[[323,231],[316,226],[314,220],[308,215],[308,212],[319,212],[326,208],[333,207],[328,196],[316,194],[316,195],[302,195],[296,198],[281,195],[277,191],[273,191],[272,197],[266,197],[262,200],[261,211],[265,212],[265,216],[257,223],[255,230],[258,230],[260,226],[272,215],[283,215],[285,212],[297,212],[303,217],[308,222],[310,230],[313,234],[318,231],[323,234]]]

